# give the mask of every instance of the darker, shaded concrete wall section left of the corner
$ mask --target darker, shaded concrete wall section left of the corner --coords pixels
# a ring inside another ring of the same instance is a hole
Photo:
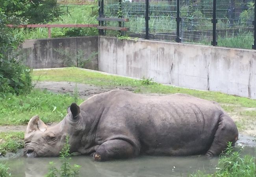
[[[70,37],[27,40],[19,60],[31,68],[80,66],[98,70],[98,37]]]

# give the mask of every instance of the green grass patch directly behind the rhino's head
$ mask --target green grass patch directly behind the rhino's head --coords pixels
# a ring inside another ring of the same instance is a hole
[[[26,125],[38,114],[45,123],[58,122],[67,114],[67,107],[78,100],[69,94],[54,94],[38,89],[26,95],[0,98],[0,125]]]

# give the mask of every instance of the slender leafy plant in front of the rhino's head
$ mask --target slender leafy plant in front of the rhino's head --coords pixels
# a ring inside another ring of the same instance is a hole
[[[66,143],[64,147],[60,151],[59,159],[61,161],[60,170],[54,167],[54,163],[50,162],[50,169],[47,173],[46,177],[57,177],[59,174],[60,177],[78,177],[79,171],[78,169],[81,167],[77,164],[74,164],[74,167],[70,166],[70,144],[69,144],[69,136],[66,136]]]

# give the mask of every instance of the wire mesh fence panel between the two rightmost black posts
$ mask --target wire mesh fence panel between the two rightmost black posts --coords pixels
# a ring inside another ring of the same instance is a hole
[[[217,0],[218,46],[252,48],[254,0]]]

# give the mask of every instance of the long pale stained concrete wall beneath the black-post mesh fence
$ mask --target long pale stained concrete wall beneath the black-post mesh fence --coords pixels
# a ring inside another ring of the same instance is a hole
[[[162,41],[98,39],[100,71],[256,99],[256,51]]]

